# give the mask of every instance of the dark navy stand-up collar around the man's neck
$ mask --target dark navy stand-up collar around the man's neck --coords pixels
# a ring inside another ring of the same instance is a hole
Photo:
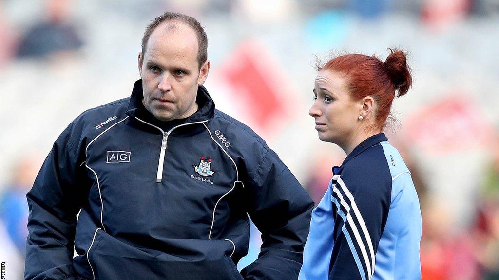
[[[196,103],[198,103],[198,111],[188,117],[187,119],[173,120],[169,122],[164,122],[156,119],[142,104],[142,98],[144,94],[142,92],[142,79],[135,82],[132,90],[132,96],[130,97],[130,103],[128,105],[128,110],[126,114],[130,117],[139,117],[144,119],[144,121],[156,125],[158,127],[165,127],[169,125],[180,125],[184,123],[194,123],[201,121],[211,121],[215,116],[215,103],[213,99],[208,94],[208,91],[204,86],[199,86],[198,96],[196,97]]]

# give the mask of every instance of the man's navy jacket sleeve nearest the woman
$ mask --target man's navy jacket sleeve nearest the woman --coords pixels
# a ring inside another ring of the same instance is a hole
[[[263,243],[258,259],[241,274],[248,280],[297,279],[313,201],[269,148],[248,181],[248,214]]]

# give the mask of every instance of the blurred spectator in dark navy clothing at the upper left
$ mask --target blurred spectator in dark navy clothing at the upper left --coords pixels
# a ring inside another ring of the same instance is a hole
[[[76,25],[67,21],[70,0],[49,0],[47,20],[27,30],[19,42],[18,57],[44,58],[72,52],[83,45]]]

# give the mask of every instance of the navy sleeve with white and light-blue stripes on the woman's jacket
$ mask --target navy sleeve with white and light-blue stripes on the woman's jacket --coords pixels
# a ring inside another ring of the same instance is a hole
[[[391,199],[391,181],[382,182],[362,170],[334,175],[331,203],[334,246],[330,280],[369,280]]]

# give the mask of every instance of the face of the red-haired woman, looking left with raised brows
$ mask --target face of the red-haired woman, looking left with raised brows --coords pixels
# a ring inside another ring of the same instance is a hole
[[[361,101],[353,101],[340,73],[321,70],[315,78],[314,103],[308,114],[315,119],[319,139],[347,146],[360,129]]]

